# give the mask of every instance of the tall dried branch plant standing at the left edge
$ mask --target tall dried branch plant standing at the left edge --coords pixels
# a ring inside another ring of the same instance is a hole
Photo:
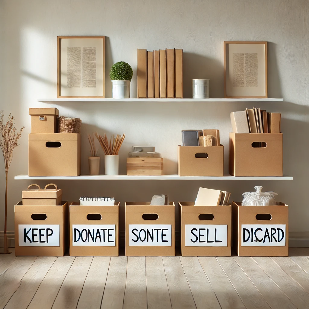
[[[14,127],[14,117],[9,114],[9,119],[3,121],[3,110],[0,118],[0,147],[4,158],[6,186],[5,186],[5,217],[4,217],[4,253],[11,253],[7,251],[6,246],[6,213],[7,213],[7,174],[13,158],[13,150],[18,146],[18,140],[23,131],[22,127],[19,131]]]

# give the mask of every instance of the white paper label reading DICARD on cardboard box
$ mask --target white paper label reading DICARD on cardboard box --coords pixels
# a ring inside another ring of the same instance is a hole
[[[242,224],[242,246],[285,246],[285,224]]]

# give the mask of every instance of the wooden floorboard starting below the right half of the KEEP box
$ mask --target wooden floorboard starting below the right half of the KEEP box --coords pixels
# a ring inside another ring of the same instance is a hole
[[[38,256],[23,276],[19,288],[6,304],[5,309],[26,309],[56,258],[55,256]]]

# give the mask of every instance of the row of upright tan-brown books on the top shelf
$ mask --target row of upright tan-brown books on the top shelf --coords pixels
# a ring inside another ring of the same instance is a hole
[[[138,98],[183,98],[182,49],[137,50]]]

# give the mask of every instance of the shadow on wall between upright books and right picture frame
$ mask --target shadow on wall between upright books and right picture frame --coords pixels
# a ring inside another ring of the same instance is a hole
[[[184,98],[192,98],[192,79],[210,79],[210,98],[223,98],[223,61],[183,53]]]

